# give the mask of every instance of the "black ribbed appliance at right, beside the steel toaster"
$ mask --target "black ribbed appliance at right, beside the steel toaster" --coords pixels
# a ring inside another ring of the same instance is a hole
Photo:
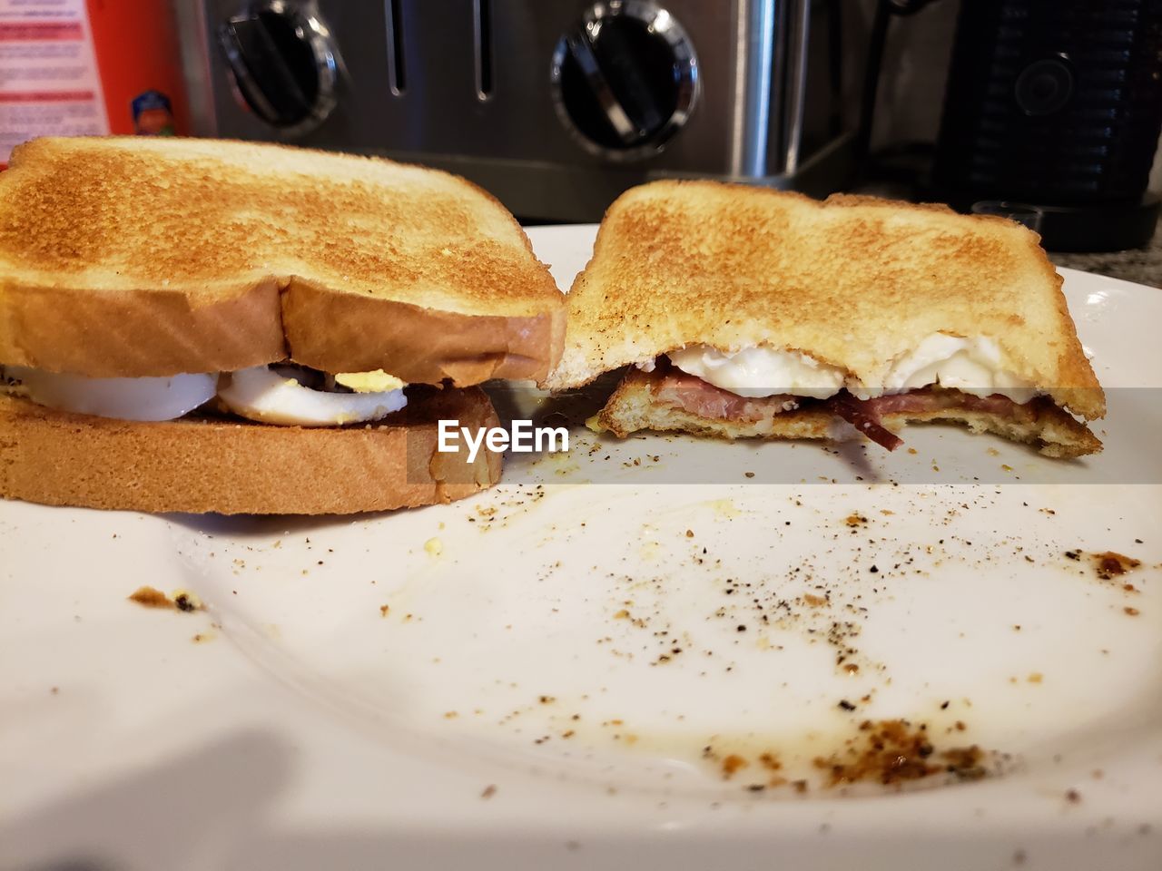
[[[937,196],[1055,251],[1147,243],[1162,129],[1162,0],[963,0]]]

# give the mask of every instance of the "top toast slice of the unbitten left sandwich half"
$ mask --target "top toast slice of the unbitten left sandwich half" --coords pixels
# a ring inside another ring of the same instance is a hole
[[[562,295],[464,179],[278,145],[45,138],[0,174],[0,362],[544,377]]]

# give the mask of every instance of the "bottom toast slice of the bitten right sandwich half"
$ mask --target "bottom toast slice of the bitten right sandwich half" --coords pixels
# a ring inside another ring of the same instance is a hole
[[[703,417],[666,402],[659,396],[665,375],[630,369],[610,396],[605,406],[590,422],[597,432],[611,432],[625,438],[639,430],[687,432],[726,439],[834,439],[855,430],[838,418],[826,403],[804,403],[789,411],[769,409],[768,413],[746,419]],[[952,397],[949,397],[952,398]],[[1097,453],[1102,442],[1084,424],[1078,423],[1053,403],[1039,399],[1025,405],[991,410],[987,403],[957,405],[931,403],[901,411],[889,411],[881,418],[884,426],[898,431],[909,423],[954,422],[973,432],[991,432],[1012,441],[1034,446],[1046,456],[1076,458]],[[981,406],[983,405],[983,408]]]

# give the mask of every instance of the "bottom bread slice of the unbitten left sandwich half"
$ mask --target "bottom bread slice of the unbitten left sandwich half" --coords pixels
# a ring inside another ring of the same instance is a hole
[[[324,514],[430,505],[500,478],[501,455],[438,453],[437,422],[498,426],[480,388],[431,390],[376,424],[302,429],[55,411],[0,395],[0,496],[46,505]]]

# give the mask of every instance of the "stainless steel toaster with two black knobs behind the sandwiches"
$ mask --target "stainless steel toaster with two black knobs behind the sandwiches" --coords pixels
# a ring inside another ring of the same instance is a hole
[[[594,221],[655,178],[838,188],[838,6],[202,0],[180,14],[198,132],[438,166],[523,218]]]

